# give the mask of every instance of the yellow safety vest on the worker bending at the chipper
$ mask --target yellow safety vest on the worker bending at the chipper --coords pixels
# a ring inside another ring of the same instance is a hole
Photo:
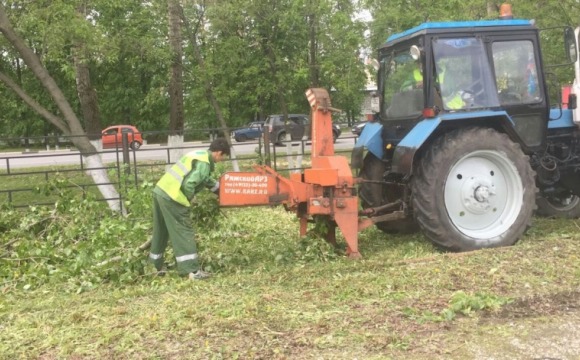
[[[193,160],[199,160],[209,164],[209,153],[206,150],[188,152],[170,167],[165,175],[157,182],[157,187],[163,190],[171,199],[187,207],[191,205],[185,194],[181,191],[181,184],[193,169]]]

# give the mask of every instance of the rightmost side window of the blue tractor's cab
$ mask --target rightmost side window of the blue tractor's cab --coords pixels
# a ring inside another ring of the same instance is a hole
[[[542,100],[531,41],[501,41],[492,45],[495,81],[502,105]]]

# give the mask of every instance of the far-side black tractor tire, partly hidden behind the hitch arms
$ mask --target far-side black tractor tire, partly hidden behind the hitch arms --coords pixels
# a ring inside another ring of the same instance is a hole
[[[382,181],[386,171],[383,161],[368,153],[363,162],[359,176],[365,180]],[[363,208],[376,207],[400,199],[400,189],[395,186],[386,186],[378,183],[361,183],[358,189],[359,198]],[[377,228],[387,234],[411,234],[417,232],[419,227],[412,217],[376,224]]]

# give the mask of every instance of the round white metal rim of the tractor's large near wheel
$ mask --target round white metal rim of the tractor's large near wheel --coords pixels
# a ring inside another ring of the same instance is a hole
[[[490,239],[509,230],[523,204],[522,181],[505,153],[472,152],[455,163],[445,181],[449,219],[466,236]]]

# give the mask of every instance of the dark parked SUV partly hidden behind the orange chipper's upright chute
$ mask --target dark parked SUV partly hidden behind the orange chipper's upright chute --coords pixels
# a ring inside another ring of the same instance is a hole
[[[285,141],[297,141],[303,138],[310,139],[310,117],[305,114],[288,114],[288,123],[284,124],[284,115],[270,115],[266,118],[270,141],[282,144]],[[342,133],[338,125],[333,124],[332,135],[334,141]]]

